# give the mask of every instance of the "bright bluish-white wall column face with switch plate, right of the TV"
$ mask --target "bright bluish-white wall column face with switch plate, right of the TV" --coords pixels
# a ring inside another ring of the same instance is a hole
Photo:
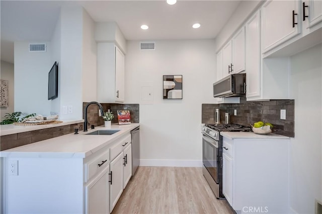
[[[72,106],[72,114],[60,114],[60,119],[83,118],[83,8],[62,7],[60,49],[60,112],[62,106]]]

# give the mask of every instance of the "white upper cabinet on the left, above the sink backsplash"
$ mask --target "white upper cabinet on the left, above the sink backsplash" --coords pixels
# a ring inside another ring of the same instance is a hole
[[[97,99],[124,102],[124,54],[114,43],[97,43]]]

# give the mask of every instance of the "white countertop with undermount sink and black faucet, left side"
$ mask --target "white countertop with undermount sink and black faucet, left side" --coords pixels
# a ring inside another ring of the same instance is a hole
[[[123,134],[129,133],[139,125],[112,124],[112,129],[121,130],[113,135],[85,135],[99,129],[105,129],[104,126],[97,127],[94,130],[89,129],[88,132],[79,131],[78,135],[72,133],[4,150],[0,152],[0,157],[85,158],[119,139]]]

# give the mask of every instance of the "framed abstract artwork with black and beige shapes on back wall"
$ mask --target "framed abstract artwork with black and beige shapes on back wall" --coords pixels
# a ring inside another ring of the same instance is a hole
[[[163,99],[182,99],[182,75],[163,76]]]

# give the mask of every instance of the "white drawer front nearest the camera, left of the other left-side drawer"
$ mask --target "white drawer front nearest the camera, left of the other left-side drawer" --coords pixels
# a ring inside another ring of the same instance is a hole
[[[95,155],[95,154],[94,154]],[[95,174],[102,172],[110,162],[110,150],[106,150],[93,160],[85,164],[85,182],[89,181]]]

